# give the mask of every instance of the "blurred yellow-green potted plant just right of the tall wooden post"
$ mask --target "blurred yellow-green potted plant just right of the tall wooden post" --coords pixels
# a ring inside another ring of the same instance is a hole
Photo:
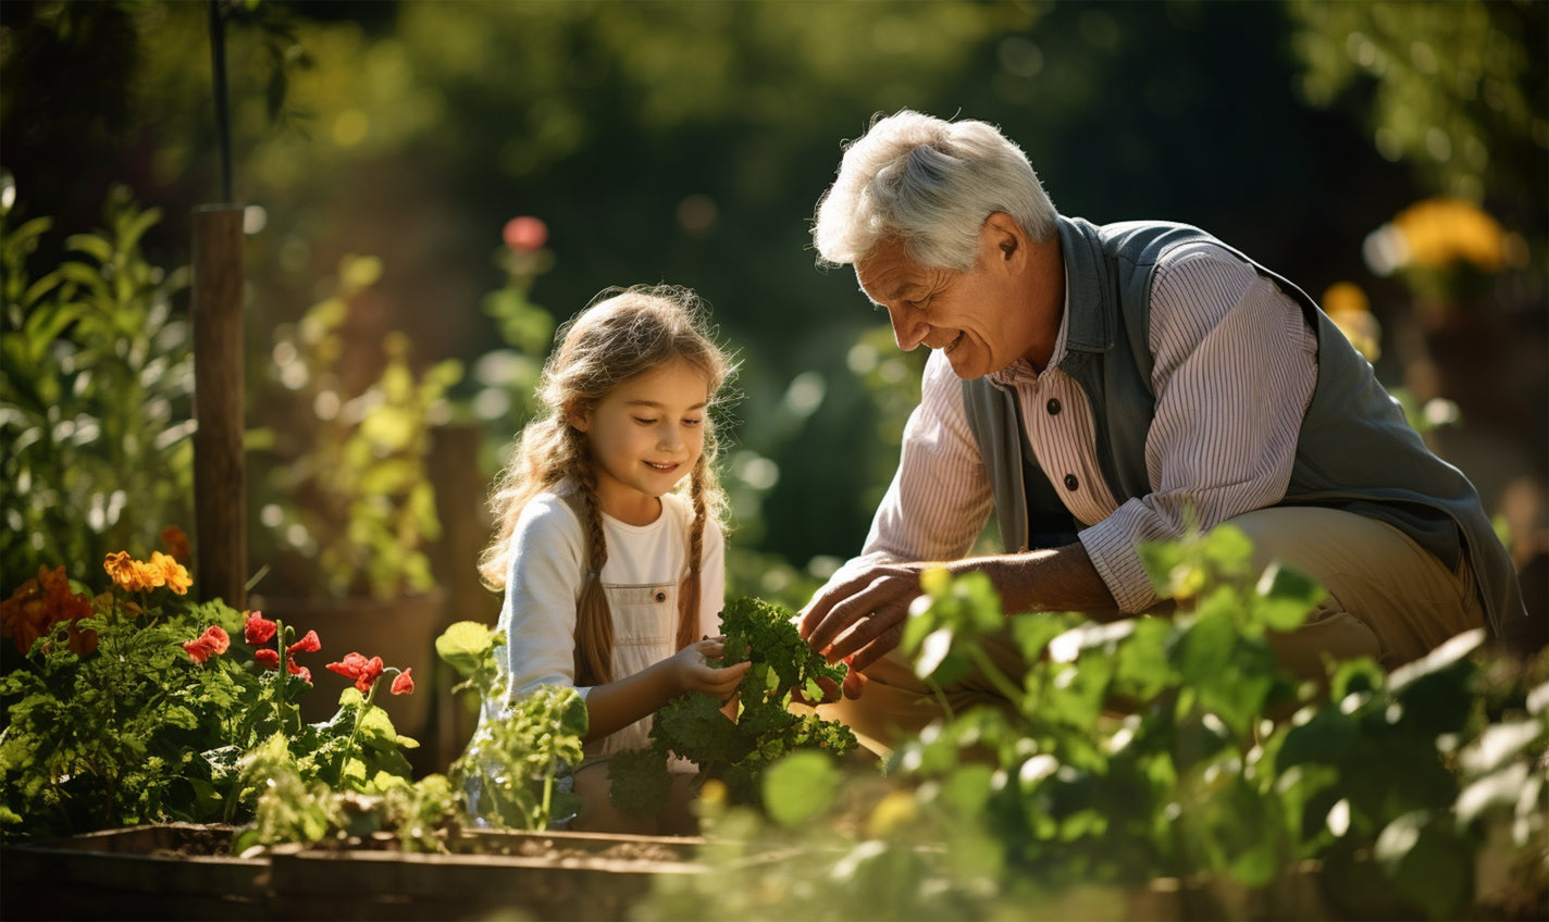
[[[273,399],[260,407],[270,425],[248,441],[266,470],[257,483],[273,490],[259,521],[283,594],[387,599],[435,585],[428,456],[462,364],[417,370],[401,331],[380,354],[347,362],[352,309],[381,274],[381,260],[345,257],[335,292],[276,331]]]

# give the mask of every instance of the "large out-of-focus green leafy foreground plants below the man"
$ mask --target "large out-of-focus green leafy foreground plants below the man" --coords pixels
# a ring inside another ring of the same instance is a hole
[[[1267,639],[1321,589],[1248,552],[1230,528],[1148,548],[1179,613],[1112,625],[1007,625],[982,577],[928,574],[917,674],[973,671],[1010,707],[926,727],[880,787],[781,761],[765,801],[838,791],[788,815],[706,798],[713,872],[657,882],[640,917],[1543,916],[1549,659],[1472,633],[1298,684]],[[991,631],[1025,674],[985,656]]]

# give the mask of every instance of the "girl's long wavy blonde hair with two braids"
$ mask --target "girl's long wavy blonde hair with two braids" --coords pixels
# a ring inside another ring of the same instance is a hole
[[[511,535],[533,497],[573,481],[572,506],[587,535],[587,580],[576,606],[575,681],[599,685],[613,681],[613,616],[603,592],[607,563],[603,515],[596,503],[596,472],[586,435],[570,418],[587,415],[618,385],[682,359],[705,374],[709,408],[705,413],[705,449],[694,464],[686,492],[694,507],[689,529],[688,575],[678,589],[677,647],[696,640],[700,605],[700,562],[705,524],[723,521],[726,497],[716,473],[719,446],[714,408],[733,373],[731,357],[708,330],[708,311],[692,291],[671,285],[607,289],[559,330],[559,347],[544,364],[538,384],[538,415],[522,427],[516,450],[489,497],[494,540],[479,558],[479,575],[491,589],[503,589],[511,563]]]

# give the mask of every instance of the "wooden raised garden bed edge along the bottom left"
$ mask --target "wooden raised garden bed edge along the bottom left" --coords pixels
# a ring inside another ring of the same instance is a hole
[[[9,846],[5,919],[623,919],[657,874],[697,874],[697,838],[465,832],[451,854],[390,835],[229,854],[228,826],[170,823]]]

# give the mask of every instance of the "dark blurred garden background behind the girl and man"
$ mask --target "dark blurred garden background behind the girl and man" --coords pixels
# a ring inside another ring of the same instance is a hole
[[[841,142],[909,107],[1001,125],[1064,213],[1194,223],[1324,297],[1503,517],[1543,605],[1549,5],[220,9],[248,206],[249,425],[265,446],[294,421],[273,415],[274,393],[307,384],[287,382],[291,334],[350,288],[350,257],[376,261],[330,328],[331,381],[460,360],[426,413],[479,425],[480,476],[542,359],[507,331],[511,311],[544,334],[545,316],[609,285],[688,285],[742,359],[734,589],[799,603],[858,549],[922,364],[850,272],[815,268],[809,221]],[[122,184],[163,212],[149,258],[187,263],[189,210],[220,195],[208,17],[195,2],[0,8],[0,166],[19,212],[87,230]],[[502,243],[517,215],[547,224],[541,252]],[[29,258],[57,261],[62,234]],[[505,314],[485,309],[499,291]],[[407,339],[383,357],[393,331]],[[259,566],[305,535],[265,515],[283,466],[254,470]],[[31,574],[6,562],[3,575],[8,592]]]

